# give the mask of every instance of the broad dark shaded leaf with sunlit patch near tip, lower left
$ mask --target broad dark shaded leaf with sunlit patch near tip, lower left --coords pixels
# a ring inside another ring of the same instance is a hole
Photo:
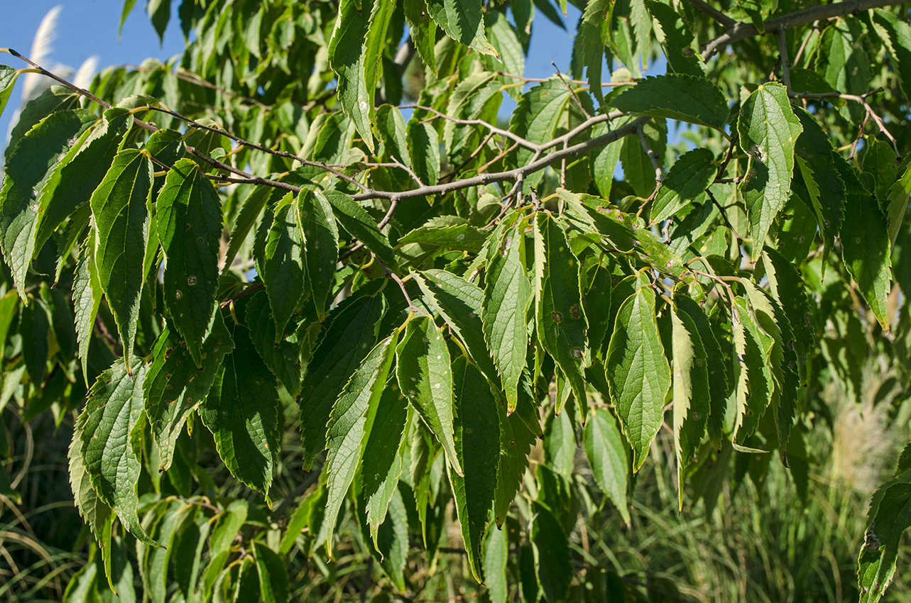
[[[199,408],[215,449],[231,475],[261,492],[269,502],[279,454],[279,395],[246,327],[235,325],[234,350]]]

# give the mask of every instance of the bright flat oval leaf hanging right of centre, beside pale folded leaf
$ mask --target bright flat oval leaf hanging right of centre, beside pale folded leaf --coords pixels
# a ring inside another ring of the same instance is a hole
[[[670,367],[650,286],[640,287],[619,307],[605,368],[610,397],[632,447],[633,471],[638,471],[664,421],[664,398],[670,388]]]

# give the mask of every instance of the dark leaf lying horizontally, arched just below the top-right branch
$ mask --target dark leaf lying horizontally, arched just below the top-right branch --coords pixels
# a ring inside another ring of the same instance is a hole
[[[646,77],[621,92],[610,105],[624,113],[670,117],[719,130],[731,115],[721,88],[704,77],[685,74]]]

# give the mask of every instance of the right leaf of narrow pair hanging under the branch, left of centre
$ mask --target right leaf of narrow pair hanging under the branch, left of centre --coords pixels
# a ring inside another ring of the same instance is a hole
[[[333,294],[335,264],[339,257],[339,229],[335,225],[333,207],[325,196],[302,190],[297,197],[304,235],[304,257],[307,262],[307,281],[316,314],[324,320],[326,302]]]

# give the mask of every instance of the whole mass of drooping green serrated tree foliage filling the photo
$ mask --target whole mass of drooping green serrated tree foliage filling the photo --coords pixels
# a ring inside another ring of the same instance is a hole
[[[497,603],[670,600],[605,537],[667,484],[708,518],[834,500],[826,392],[908,422],[911,25],[715,4],[589,0],[541,81],[566,0],[183,0],[183,55],[88,90],[5,49],[0,111],[61,84],[5,151],[0,447],[72,436],[92,562],[63,598],[455,597],[455,552]],[[855,534],[862,601],[909,503],[911,447]]]

